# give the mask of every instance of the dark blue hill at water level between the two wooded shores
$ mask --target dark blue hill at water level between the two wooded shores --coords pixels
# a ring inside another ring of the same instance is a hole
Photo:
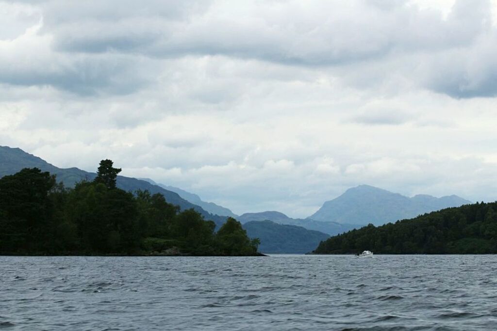
[[[330,236],[301,226],[277,224],[271,221],[250,221],[243,225],[250,238],[259,238],[261,253],[312,252]]]

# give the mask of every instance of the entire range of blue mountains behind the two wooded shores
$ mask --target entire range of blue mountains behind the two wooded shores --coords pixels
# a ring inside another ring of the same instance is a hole
[[[96,176],[95,173],[78,168],[58,168],[19,148],[0,146],[0,177],[14,174],[22,168],[33,167],[57,175],[57,180],[67,187],[74,187],[82,180],[93,180]],[[118,176],[117,186],[131,192],[148,190],[152,194],[160,193],[169,203],[178,205],[181,210],[195,209],[205,219],[213,220],[218,228],[226,221],[227,216],[234,217],[244,225],[249,236],[261,239],[261,248],[267,253],[305,253],[309,247],[319,244],[329,235],[344,233],[369,223],[382,225],[471,203],[457,196],[435,198],[417,195],[409,198],[372,186],[360,185],[348,189],[336,199],[326,201],[316,213],[304,219],[291,218],[278,211],[245,213],[238,216],[226,207],[203,201],[196,194],[157,184],[151,179]]]

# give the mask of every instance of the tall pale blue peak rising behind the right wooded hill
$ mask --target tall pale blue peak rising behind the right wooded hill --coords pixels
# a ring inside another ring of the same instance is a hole
[[[427,212],[458,207],[471,201],[457,196],[435,198],[417,195],[402,196],[369,185],[348,189],[336,199],[327,201],[309,219],[366,225],[382,225],[400,219],[413,218]]]

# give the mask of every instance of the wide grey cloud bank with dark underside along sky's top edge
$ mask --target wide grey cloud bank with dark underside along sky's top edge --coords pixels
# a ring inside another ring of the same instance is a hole
[[[468,15],[464,2],[459,1],[444,21],[405,3],[379,6],[360,0],[346,5],[314,2],[305,10],[295,1],[253,2],[245,4],[249,14],[241,17],[218,14],[229,9],[226,2],[200,6],[195,1],[187,2],[190,5],[54,1],[45,7],[44,29],[66,51],[116,49],[157,57],[224,54],[288,65],[330,66],[374,60],[396,49],[468,43],[482,30],[482,22],[488,21],[487,2],[472,1]]]

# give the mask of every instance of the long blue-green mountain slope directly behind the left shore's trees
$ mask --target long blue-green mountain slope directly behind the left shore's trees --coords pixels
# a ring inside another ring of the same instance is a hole
[[[97,165],[95,165],[95,168],[96,166]],[[57,168],[37,156],[26,153],[20,148],[0,146],[0,177],[15,174],[23,168],[34,167],[39,168],[42,171],[48,171],[53,175],[57,175],[57,181],[63,182],[67,187],[74,187],[76,183],[82,180],[91,181],[96,176],[96,173],[86,172],[78,168]],[[131,192],[135,192],[137,190],[148,190],[151,194],[160,193],[164,195],[167,202],[179,206],[181,210],[193,208],[202,214],[205,219],[213,220],[218,227],[226,221],[225,217],[212,215],[202,207],[181,198],[177,193],[168,191],[160,186],[153,185],[146,181],[136,178],[117,176],[117,187]]]

